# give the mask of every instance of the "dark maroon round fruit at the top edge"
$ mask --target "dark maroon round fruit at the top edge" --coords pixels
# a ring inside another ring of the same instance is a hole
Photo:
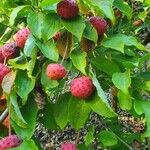
[[[57,4],[57,13],[63,19],[73,19],[79,13],[76,0],[63,0]]]

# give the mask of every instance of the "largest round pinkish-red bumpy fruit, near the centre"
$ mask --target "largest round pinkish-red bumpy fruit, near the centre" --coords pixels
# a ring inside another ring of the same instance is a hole
[[[73,96],[86,99],[93,93],[94,85],[89,77],[82,76],[71,82],[70,91]]]

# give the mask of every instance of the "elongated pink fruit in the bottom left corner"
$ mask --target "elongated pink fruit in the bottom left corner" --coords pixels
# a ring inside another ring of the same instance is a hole
[[[21,144],[21,139],[17,135],[10,135],[0,140],[0,150],[7,150]]]

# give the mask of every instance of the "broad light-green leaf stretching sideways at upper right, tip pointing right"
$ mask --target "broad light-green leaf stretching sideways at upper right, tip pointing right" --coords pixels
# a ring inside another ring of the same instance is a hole
[[[102,45],[106,48],[115,49],[122,53],[124,53],[125,46],[135,46],[140,50],[145,50],[145,47],[139,43],[135,37],[124,34],[116,34],[108,37],[102,41]]]

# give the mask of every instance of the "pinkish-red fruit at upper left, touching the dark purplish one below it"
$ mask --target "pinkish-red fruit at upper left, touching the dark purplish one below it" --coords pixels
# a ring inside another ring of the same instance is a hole
[[[30,30],[27,27],[19,30],[15,34],[15,42],[16,42],[17,46],[20,48],[23,48],[29,35],[30,35]]]

